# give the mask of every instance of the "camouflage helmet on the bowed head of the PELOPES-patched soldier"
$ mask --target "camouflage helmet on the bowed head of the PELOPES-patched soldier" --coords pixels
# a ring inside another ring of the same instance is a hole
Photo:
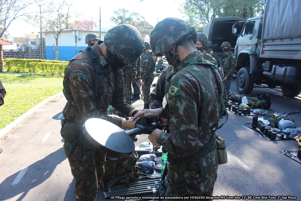
[[[104,35],[104,44],[109,51],[129,63],[135,63],[143,51],[143,37],[130,24],[120,24],[108,30]]]

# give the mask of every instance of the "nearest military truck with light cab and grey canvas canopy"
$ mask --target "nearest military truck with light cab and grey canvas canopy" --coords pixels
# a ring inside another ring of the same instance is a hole
[[[266,87],[281,88],[288,97],[299,95],[300,10],[300,0],[267,0],[263,15],[233,25],[232,33],[238,35],[234,54],[240,94],[250,94],[254,87]]]

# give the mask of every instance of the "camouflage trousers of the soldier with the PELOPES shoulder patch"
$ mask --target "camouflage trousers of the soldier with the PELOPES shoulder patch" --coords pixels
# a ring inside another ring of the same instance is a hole
[[[80,146],[81,138],[82,135],[79,136],[76,147],[71,154],[64,150],[70,164],[71,173],[76,179],[76,200],[95,201],[104,175],[106,153],[98,149],[82,149]]]

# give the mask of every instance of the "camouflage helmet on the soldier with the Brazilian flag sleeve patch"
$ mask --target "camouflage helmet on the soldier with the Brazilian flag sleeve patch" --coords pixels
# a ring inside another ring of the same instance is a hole
[[[155,56],[162,56],[174,45],[181,45],[189,38],[197,42],[197,31],[194,26],[177,17],[168,17],[157,23],[151,32],[151,48]]]

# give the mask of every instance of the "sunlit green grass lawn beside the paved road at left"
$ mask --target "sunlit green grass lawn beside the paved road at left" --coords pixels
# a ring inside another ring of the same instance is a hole
[[[33,106],[63,90],[63,76],[0,74],[6,90],[0,107],[0,130]]]

